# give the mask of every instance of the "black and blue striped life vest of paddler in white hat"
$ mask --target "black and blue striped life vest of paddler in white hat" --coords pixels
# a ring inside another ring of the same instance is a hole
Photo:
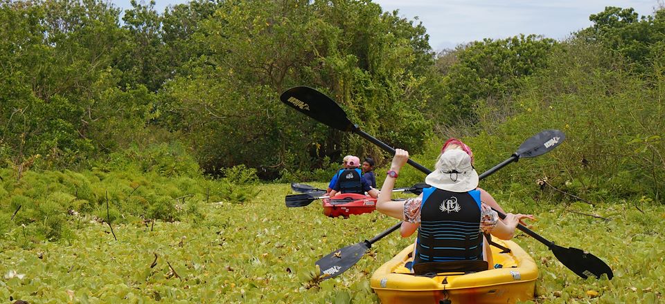
[[[483,260],[480,191],[423,189],[414,264]]]

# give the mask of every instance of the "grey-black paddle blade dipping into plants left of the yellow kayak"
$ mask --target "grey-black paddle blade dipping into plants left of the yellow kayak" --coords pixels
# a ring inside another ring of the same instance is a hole
[[[332,251],[327,256],[317,260],[317,265],[321,269],[321,278],[324,280],[339,276],[351,266],[358,263],[360,258],[365,254],[367,249],[371,247],[367,241],[357,243],[355,245],[347,246],[342,249]]]

